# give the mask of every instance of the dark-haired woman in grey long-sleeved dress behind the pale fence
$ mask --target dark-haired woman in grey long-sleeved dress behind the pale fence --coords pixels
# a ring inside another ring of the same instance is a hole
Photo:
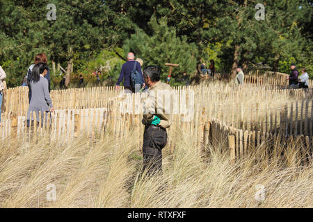
[[[31,103],[29,104],[29,110],[27,112],[27,125],[29,126],[29,120],[33,119],[33,112],[35,111],[36,120],[39,122],[39,111],[43,114],[48,112],[54,112],[51,97],[49,94],[48,80],[45,78],[48,67],[46,63],[38,63],[33,67],[31,72]]]

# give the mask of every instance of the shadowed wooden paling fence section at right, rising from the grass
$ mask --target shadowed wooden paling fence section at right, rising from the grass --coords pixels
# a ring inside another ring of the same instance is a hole
[[[262,153],[264,157],[282,154],[282,147],[294,148],[299,159],[304,164],[312,163],[313,136],[290,135],[285,137],[280,133],[262,133],[260,131],[241,130],[226,126],[218,119],[209,122],[209,133],[206,142],[211,141],[214,146],[230,152],[232,160],[248,154]]]

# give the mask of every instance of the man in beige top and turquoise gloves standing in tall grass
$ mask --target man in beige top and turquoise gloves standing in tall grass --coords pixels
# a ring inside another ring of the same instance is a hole
[[[159,67],[145,67],[143,78],[149,87],[143,102],[143,171],[152,175],[162,171],[162,149],[168,138],[166,128],[171,124],[174,97],[170,85],[161,82]]]

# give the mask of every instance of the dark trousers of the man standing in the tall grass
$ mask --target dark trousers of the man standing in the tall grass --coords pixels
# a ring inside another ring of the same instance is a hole
[[[161,173],[162,149],[166,146],[168,134],[166,129],[159,126],[145,126],[143,134],[143,171],[147,175]]]

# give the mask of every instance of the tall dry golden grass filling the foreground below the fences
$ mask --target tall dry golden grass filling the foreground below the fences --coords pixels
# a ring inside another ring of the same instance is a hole
[[[184,130],[169,136],[176,137],[175,151],[164,148],[163,174],[150,178],[141,174],[141,148],[133,133],[122,138],[106,133],[103,139],[82,135],[66,143],[0,141],[0,205],[312,207],[312,164],[294,164],[294,148],[268,160],[262,144],[232,162],[218,146],[207,146],[200,156]],[[47,200],[49,184],[56,186],[56,201]],[[256,200],[256,185],[264,185],[264,201]]]

